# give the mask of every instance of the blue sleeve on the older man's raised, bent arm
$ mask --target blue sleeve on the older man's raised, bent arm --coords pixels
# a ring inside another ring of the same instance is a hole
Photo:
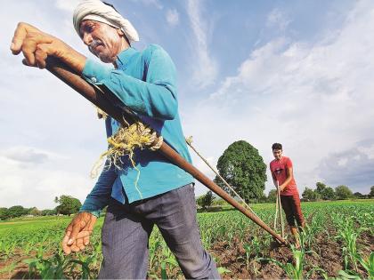
[[[110,69],[102,63],[87,60],[83,76],[91,84],[104,85],[117,98],[119,107],[127,107],[142,116],[171,120],[178,108],[175,65],[159,46],[143,54],[144,79],[126,75],[121,69]]]

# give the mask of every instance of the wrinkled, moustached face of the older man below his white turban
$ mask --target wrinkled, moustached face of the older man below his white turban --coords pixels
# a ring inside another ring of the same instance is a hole
[[[106,63],[114,62],[122,51],[122,35],[120,29],[95,20],[83,20],[79,28],[79,36],[90,52]]]

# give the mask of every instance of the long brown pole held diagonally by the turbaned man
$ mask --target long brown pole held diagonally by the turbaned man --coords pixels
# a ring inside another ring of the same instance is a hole
[[[117,108],[110,102],[111,98],[114,98],[111,92],[108,92],[105,87],[94,87],[91,84],[85,82],[83,78],[74,73],[68,66],[61,63],[60,60],[54,59],[53,57],[48,58],[46,67],[54,76],[57,76],[65,84],[68,84],[71,88],[76,90],[78,93],[83,95],[85,99],[90,100],[98,108],[101,108],[105,113],[112,116],[120,124],[128,125],[133,124],[136,120],[136,116],[131,114],[130,111],[123,110],[122,108]],[[280,241],[281,244],[288,244],[288,242],[281,237],[279,234],[274,232],[272,228],[264,223],[263,220],[256,217],[252,212],[239,204],[232,196],[229,196],[222,188],[219,188],[214,181],[210,180],[202,172],[194,167],[192,164],[188,163],[182,156],[180,156],[173,148],[167,145],[164,141],[162,146],[159,148],[159,153],[166,156],[171,163],[179,166],[184,171],[189,172],[196,180],[199,180],[207,188],[211,189],[215,194],[221,196],[229,204],[238,209],[240,212],[245,214],[250,220],[256,222],[258,226],[264,228],[269,234]]]

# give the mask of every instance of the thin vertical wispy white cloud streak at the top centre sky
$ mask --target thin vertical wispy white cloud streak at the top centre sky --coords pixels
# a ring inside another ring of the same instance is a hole
[[[187,1],[187,13],[191,22],[193,37],[191,38],[192,52],[195,54],[193,60],[192,83],[200,88],[213,84],[218,74],[217,62],[210,55],[208,48],[208,28],[207,22],[202,19],[201,2],[198,0]]]

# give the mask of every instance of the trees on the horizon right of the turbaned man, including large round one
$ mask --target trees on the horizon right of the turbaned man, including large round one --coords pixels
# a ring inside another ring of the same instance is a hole
[[[264,195],[266,168],[267,165],[264,164],[264,159],[259,155],[258,150],[244,140],[233,142],[224,150],[224,154],[217,162],[219,174],[247,203],[275,202],[277,197],[275,188],[268,196]],[[218,176],[215,177],[215,183],[234,196],[232,190]],[[369,194],[362,195],[359,192],[353,193],[347,186],[331,188],[322,182],[317,182],[315,189],[306,187],[302,197],[304,201],[373,198],[374,186],[370,188]],[[209,205],[217,204],[218,201],[220,200],[215,200],[215,196],[208,191],[206,195],[199,196],[196,202],[200,207],[207,208]]]

